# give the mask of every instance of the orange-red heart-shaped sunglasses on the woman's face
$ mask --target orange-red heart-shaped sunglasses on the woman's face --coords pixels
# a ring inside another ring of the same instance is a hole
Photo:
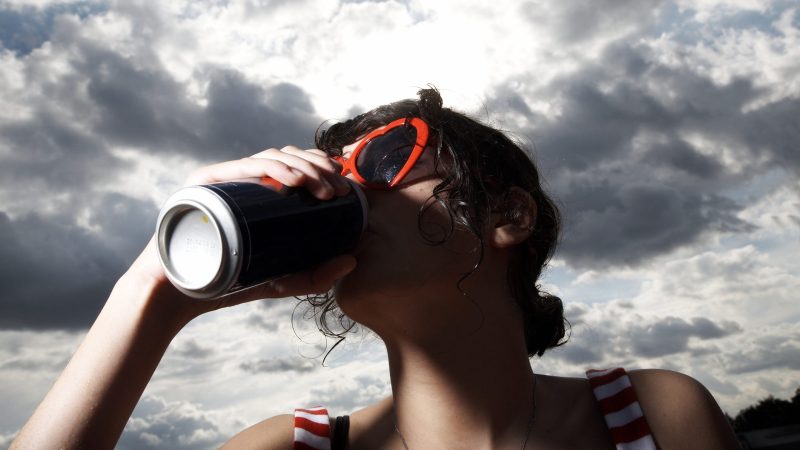
[[[391,189],[411,171],[428,144],[428,124],[422,119],[397,119],[373,130],[359,142],[350,157],[337,156],[342,176],[352,173],[371,189]]]

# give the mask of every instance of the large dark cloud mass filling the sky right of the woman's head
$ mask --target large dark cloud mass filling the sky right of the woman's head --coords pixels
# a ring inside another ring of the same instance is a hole
[[[709,233],[750,232],[737,217],[746,205],[726,189],[774,167],[800,173],[800,99],[753,107],[764,92],[752,81],[718,85],[652,60],[645,47],[612,46],[600,60],[539,91],[555,118],[506,86],[489,102],[531,123],[525,134],[565,213],[560,255],[569,264],[634,266]],[[690,134],[734,150],[744,170]]]

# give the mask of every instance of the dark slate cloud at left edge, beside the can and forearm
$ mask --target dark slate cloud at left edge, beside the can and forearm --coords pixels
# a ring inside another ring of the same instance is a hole
[[[155,206],[120,194],[90,200],[90,223],[68,212],[0,212],[0,328],[91,324],[136,251],[152,233]]]

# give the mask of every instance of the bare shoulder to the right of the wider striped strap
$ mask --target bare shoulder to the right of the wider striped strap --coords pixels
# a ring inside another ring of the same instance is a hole
[[[699,381],[661,369],[632,370],[629,376],[659,447],[741,448],[716,400]]]

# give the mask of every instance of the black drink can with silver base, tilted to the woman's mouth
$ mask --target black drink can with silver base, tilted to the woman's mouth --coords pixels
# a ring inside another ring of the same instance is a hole
[[[257,182],[183,188],[158,216],[158,256],[186,295],[213,298],[352,251],[367,225],[364,193],[319,200]]]

